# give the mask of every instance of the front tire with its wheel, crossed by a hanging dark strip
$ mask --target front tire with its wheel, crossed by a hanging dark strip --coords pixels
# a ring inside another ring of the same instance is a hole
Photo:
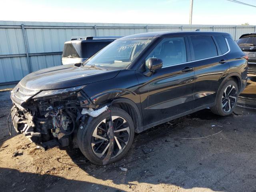
[[[112,107],[111,114],[112,114],[112,120],[113,120],[113,127],[115,131],[114,132],[115,138],[114,138],[114,151],[112,153],[112,156],[108,164],[111,164],[117,160],[120,160],[130,149],[133,138],[134,138],[134,123],[130,115],[124,110],[116,107]],[[106,125],[105,119],[106,119],[106,122],[109,119],[108,111],[105,111],[99,116],[93,118],[92,121],[89,124],[86,124],[84,128],[82,129],[78,128],[78,134],[77,134],[78,146],[81,152],[84,154],[84,156],[88,160],[98,165],[103,164],[104,156],[106,156],[106,152],[108,151],[107,143],[109,142],[102,139],[102,138],[108,138],[107,136],[108,127],[106,127],[108,125]],[[124,130],[124,131],[120,131],[120,130]],[[127,134],[129,136],[127,136]],[[121,142],[120,140],[121,138],[122,138],[122,141],[124,142]],[[122,150],[120,150],[120,147],[122,148]],[[104,152],[105,149],[106,151]]]

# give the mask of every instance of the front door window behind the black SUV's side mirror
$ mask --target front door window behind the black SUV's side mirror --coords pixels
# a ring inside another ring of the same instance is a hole
[[[150,58],[163,60],[163,66],[171,66],[187,61],[184,37],[164,38],[147,56],[146,68]]]

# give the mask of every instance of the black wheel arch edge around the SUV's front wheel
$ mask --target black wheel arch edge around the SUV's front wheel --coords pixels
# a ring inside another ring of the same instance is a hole
[[[133,114],[131,116],[133,120],[136,120],[136,122],[134,122],[136,124],[135,132],[139,133],[144,130],[144,126],[142,122],[142,115],[141,115],[142,112],[139,110],[136,103],[134,103],[132,100],[129,99],[129,97],[134,97],[134,96],[136,96],[136,94],[130,90],[116,89],[116,90],[108,90],[106,92],[102,92],[100,94],[92,96],[90,99],[92,100],[96,108],[98,108],[99,106],[104,106],[106,104],[109,105],[113,100],[114,102],[112,104],[125,103],[131,106],[132,107],[131,113]]]

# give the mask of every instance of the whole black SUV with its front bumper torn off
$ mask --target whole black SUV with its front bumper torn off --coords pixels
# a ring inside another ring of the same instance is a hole
[[[230,115],[246,85],[245,58],[223,32],[126,36],[82,64],[24,77],[11,94],[13,125],[45,149],[72,144],[95,164],[112,163],[134,132],[208,107]]]

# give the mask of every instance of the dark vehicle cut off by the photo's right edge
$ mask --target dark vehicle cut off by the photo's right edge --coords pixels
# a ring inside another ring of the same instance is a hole
[[[248,72],[256,73],[256,32],[243,34],[236,43],[248,55]]]

